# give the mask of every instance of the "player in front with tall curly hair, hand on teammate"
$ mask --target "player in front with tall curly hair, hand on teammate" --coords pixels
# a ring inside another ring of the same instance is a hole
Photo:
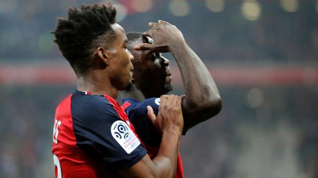
[[[56,177],[173,177],[183,129],[182,98],[162,96],[157,117],[163,134],[150,159],[133,124],[116,102],[131,85],[133,56],[111,6],[82,5],[59,19],[55,42],[77,76],[77,90],[56,109],[52,153]]]

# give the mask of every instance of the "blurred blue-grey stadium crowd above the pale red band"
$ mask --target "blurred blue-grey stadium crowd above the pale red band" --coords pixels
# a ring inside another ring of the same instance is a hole
[[[79,7],[81,3],[3,1],[3,9],[0,8],[0,38],[3,39],[0,41],[0,61],[58,62],[62,55],[49,32],[55,28],[56,17],[65,17],[67,8]],[[155,1],[152,9],[145,13],[129,12],[128,9],[128,15],[119,23],[127,32],[142,32],[147,29],[147,22],[166,19],[180,28],[190,47],[203,60],[306,65],[317,58],[315,1],[300,1],[298,11],[294,13],[285,12],[279,1],[259,1],[261,14],[256,21],[244,19],[242,1],[226,1],[225,9],[220,13],[210,12],[204,1],[189,1],[191,9],[185,17],[172,15],[168,3]]]

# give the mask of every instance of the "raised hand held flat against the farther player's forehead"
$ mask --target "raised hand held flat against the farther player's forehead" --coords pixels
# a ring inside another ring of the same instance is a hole
[[[135,46],[135,50],[151,50],[152,52],[170,52],[174,45],[185,42],[180,30],[166,22],[158,21],[158,23],[149,23],[150,30],[143,33],[145,37],[153,40],[152,44],[142,43]]]

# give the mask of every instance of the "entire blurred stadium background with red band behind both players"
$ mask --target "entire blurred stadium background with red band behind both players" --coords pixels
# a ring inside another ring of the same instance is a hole
[[[315,0],[0,0],[0,177],[54,177],[55,108],[76,77],[50,32],[69,7],[108,2],[126,32],[176,25],[218,84],[221,113],[182,138],[185,177],[318,177]]]

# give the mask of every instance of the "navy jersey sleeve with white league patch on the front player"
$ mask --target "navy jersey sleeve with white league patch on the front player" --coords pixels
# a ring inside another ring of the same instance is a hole
[[[71,108],[76,145],[88,156],[124,169],[147,153],[108,99],[87,95],[72,100]]]

